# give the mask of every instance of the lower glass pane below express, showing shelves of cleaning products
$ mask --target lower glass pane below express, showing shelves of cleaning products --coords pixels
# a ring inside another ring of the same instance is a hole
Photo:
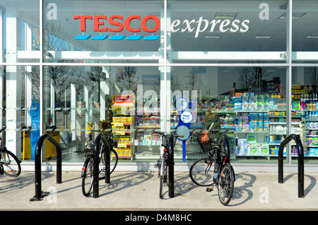
[[[179,98],[190,102],[188,109],[193,115],[191,135],[177,141],[177,158],[182,159],[184,148],[185,159],[201,157],[204,152],[196,135],[202,130],[218,130],[216,138],[228,135],[234,162],[277,161],[278,147],[288,135],[286,68],[174,66],[170,83],[172,130],[184,124]]]

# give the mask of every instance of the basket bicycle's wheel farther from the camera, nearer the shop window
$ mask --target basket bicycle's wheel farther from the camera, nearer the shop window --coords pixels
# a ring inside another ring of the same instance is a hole
[[[190,168],[190,178],[197,186],[211,186],[213,184],[213,159],[206,157],[196,160]]]

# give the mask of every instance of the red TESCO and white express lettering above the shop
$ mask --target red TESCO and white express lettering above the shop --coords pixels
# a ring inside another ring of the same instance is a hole
[[[94,32],[122,32],[124,28],[129,32],[141,32],[141,30],[152,33],[160,28],[160,19],[155,16],[129,16],[124,20],[123,16],[73,16],[74,20],[81,21],[81,31],[86,32],[86,21],[93,20],[93,31]],[[139,28],[131,28],[131,21],[139,20]],[[147,27],[148,20],[153,20],[155,26],[153,28]],[[114,27],[105,27],[105,21]],[[201,32],[214,32],[216,28],[220,32],[247,32],[249,30],[249,20],[216,20],[211,21],[200,17],[199,20],[173,20],[170,25],[171,32],[195,32],[194,37],[199,37]]]

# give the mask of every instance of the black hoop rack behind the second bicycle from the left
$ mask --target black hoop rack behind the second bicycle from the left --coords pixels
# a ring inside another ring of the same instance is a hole
[[[93,197],[99,197],[99,176],[100,176],[100,140],[107,145],[107,140],[101,133],[95,138],[94,142],[94,163],[93,163]],[[110,183],[110,148],[105,148],[107,152],[104,154],[105,160],[105,183]]]

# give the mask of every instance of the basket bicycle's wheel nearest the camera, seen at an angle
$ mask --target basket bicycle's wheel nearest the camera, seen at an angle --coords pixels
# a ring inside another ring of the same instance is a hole
[[[229,164],[224,164],[220,170],[218,181],[218,198],[223,205],[228,205],[234,191],[234,171]]]

